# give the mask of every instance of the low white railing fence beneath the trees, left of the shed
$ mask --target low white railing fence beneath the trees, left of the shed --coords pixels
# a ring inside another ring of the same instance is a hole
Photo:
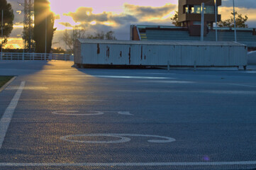
[[[0,60],[73,60],[72,55],[51,53],[0,52]]]

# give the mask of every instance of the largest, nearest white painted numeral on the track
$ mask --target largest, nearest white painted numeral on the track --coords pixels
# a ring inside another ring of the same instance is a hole
[[[127,137],[128,136],[128,137]],[[91,140],[69,140],[70,137],[117,137],[120,138],[120,140],[100,140],[100,141],[91,141]],[[64,137],[60,137],[60,140],[65,140],[67,142],[77,142],[77,143],[86,143],[86,144],[116,144],[116,143],[124,143],[129,142],[129,137],[156,137],[161,138],[162,140],[148,140],[148,142],[152,143],[168,143],[168,142],[174,142],[176,141],[172,137],[163,137],[163,136],[157,136],[157,135],[139,135],[139,134],[116,134],[116,133],[99,133],[99,134],[81,134],[81,135],[67,135]]]

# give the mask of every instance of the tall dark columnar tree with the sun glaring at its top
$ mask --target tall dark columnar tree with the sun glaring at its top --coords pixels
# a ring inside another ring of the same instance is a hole
[[[50,11],[48,0],[35,0],[35,26],[34,26],[34,39],[35,39],[35,52],[45,52],[45,30],[46,30],[46,52],[49,53],[52,47],[52,38],[56,28],[53,28],[55,17]],[[46,23],[47,24],[46,24]],[[47,26],[46,26],[47,25]]]

